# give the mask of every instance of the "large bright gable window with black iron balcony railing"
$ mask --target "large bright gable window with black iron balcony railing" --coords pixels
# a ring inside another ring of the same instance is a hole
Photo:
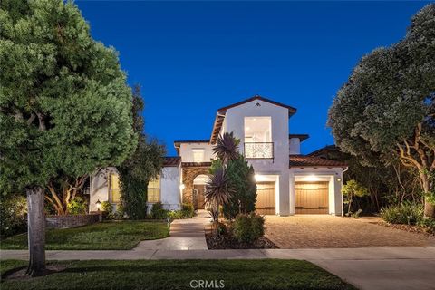
[[[274,158],[271,117],[245,117],[245,157]]]

